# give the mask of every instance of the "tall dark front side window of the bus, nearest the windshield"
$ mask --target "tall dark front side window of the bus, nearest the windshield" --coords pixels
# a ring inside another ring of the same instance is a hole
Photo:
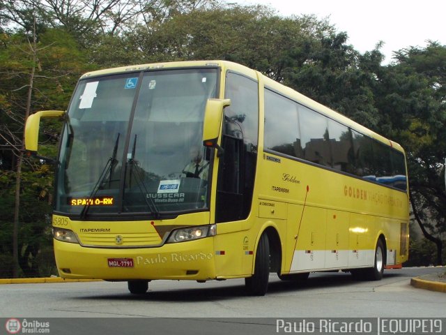
[[[252,204],[259,137],[259,84],[238,73],[226,73],[224,110],[217,181],[215,222],[247,218]],[[230,209],[230,210],[229,210]]]

